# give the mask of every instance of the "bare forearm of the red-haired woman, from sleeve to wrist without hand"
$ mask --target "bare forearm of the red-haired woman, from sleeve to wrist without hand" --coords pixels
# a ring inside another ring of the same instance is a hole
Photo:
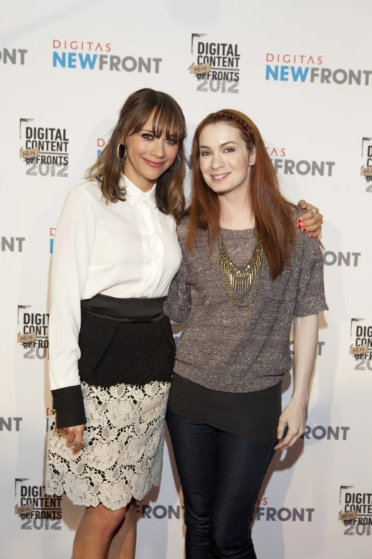
[[[318,347],[318,314],[294,318],[294,391],[292,401],[309,401],[311,374]]]

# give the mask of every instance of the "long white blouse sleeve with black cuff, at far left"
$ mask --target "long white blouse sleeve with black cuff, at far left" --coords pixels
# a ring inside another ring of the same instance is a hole
[[[95,237],[91,198],[73,188],[56,228],[51,272],[49,379],[58,428],[86,423],[78,373],[80,301]]]

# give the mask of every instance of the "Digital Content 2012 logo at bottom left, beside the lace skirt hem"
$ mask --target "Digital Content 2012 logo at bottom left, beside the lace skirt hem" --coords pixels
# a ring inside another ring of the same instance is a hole
[[[29,478],[16,478],[15,513],[21,530],[61,530],[62,497],[49,497],[43,485],[31,485]]]

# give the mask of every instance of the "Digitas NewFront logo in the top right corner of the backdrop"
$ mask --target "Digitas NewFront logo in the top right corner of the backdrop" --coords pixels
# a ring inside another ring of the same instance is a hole
[[[298,84],[371,86],[372,70],[324,67],[324,57],[312,54],[266,54],[265,79]]]

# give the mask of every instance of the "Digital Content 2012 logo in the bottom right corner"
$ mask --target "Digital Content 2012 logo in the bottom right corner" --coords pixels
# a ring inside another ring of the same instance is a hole
[[[341,485],[339,520],[345,526],[344,535],[371,535],[372,488],[356,490],[354,485]]]

